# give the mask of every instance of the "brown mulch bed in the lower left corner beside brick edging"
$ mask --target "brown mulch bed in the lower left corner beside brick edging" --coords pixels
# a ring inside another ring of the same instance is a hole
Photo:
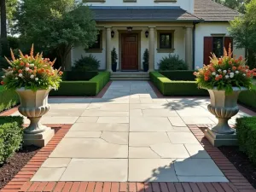
[[[3,166],[0,166],[0,189],[2,189],[9,181],[20,172],[23,166],[37,154],[39,148],[28,146],[21,148],[16,152]]]

